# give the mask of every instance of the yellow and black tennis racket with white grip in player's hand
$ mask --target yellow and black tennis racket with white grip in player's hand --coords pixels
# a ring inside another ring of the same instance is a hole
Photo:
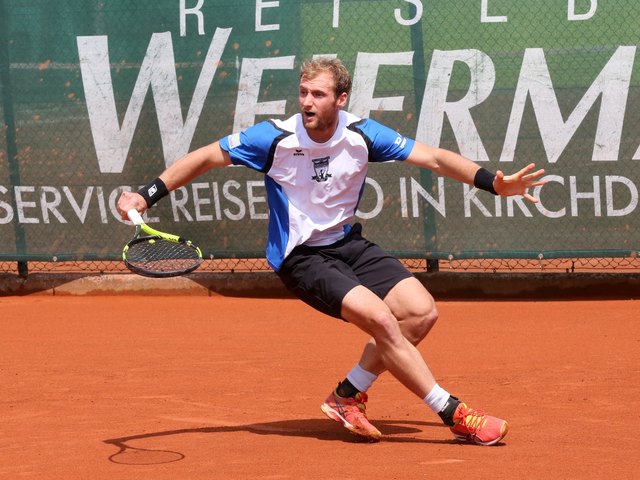
[[[193,272],[202,263],[202,252],[191,240],[154,230],[137,210],[127,212],[136,233],[122,250],[129,270],[145,277],[176,277]]]

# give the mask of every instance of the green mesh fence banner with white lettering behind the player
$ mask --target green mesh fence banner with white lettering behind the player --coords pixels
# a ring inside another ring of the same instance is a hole
[[[0,269],[118,271],[120,192],[295,113],[320,54],[351,70],[352,112],[494,171],[547,171],[534,205],[374,165],[368,237],[415,268],[636,268],[638,18],[631,0],[0,0]],[[149,217],[205,268],[266,268],[255,172],[210,172]]]

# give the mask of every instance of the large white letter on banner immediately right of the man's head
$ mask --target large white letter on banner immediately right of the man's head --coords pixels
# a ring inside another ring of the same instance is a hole
[[[380,65],[411,65],[413,52],[358,53],[349,111],[368,117],[372,110],[402,111],[404,97],[373,98]]]

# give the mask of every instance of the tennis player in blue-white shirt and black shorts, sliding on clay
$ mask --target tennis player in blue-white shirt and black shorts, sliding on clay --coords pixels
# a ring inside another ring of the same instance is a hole
[[[370,340],[359,361],[322,404],[352,433],[378,441],[366,415],[367,392],[388,371],[438,414],[460,441],[498,443],[505,420],[475,410],[440,386],[416,345],[438,317],[431,294],[394,257],[353,223],[369,162],[403,161],[497,195],[542,185],[530,164],[513,175],[398,134],[344,110],[351,78],[336,59],[305,62],[300,113],[258,123],[178,160],[137,193],[118,201],[123,218],[144,212],[170,191],[214,167],[244,165],[265,175],[269,206],[266,258],[284,284],[317,310],[360,328]]]

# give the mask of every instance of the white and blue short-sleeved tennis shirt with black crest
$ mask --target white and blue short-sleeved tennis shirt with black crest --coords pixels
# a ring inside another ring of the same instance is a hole
[[[322,144],[309,138],[300,114],[220,140],[233,164],[265,174],[266,256],[276,271],[298,245],[330,245],[344,238],[362,197],[368,163],[405,160],[414,143],[345,111],[336,133]]]

